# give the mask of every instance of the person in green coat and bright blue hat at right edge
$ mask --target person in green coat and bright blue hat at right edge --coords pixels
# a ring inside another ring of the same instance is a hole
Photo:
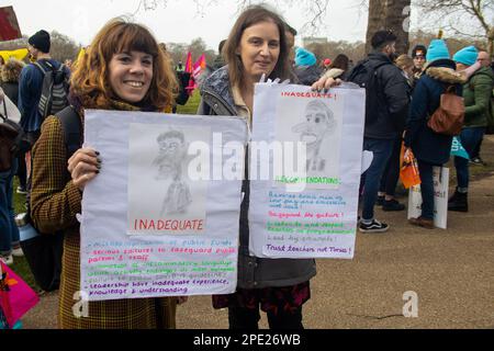
[[[474,46],[468,46],[454,54],[457,70],[462,71],[478,61],[479,53]],[[491,113],[491,94],[494,87],[494,73],[490,67],[481,66],[463,86],[464,126],[459,139],[469,155],[481,143]],[[449,211],[468,212],[469,160],[454,157],[458,185],[448,201]]]

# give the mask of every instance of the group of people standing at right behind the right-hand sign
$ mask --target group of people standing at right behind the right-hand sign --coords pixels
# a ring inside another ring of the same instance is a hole
[[[413,57],[408,57],[397,56],[395,43],[393,33],[377,32],[371,43],[373,50],[348,77],[358,82],[356,70],[362,65],[377,81],[367,87],[363,149],[373,152],[373,160],[361,182],[362,233],[389,229],[388,224],[374,218],[374,205],[383,211],[405,210],[394,197],[402,143],[404,154],[412,151],[415,156],[422,181],[422,214],[409,223],[435,228],[433,168],[450,159],[452,135],[435,132],[428,121],[440,106],[442,94],[450,92],[464,99],[464,125],[458,139],[470,156],[454,157],[458,186],[448,201],[449,211],[468,211],[469,166],[482,162],[480,146],[492,124],[494,65],[486,52],[467,46],[451,57],[446,41],[437,38],[428,47],[415,46]],[[323,76],[313,87],[323,89],[332,83]]]

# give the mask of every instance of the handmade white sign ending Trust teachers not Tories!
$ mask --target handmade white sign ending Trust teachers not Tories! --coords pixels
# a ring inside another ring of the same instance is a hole
[[[364,90],[318,93],[302,86],[259,83],[252,120],[251,254],[351,259]],[[262,143],[271,148],[269,157],[259,156]],[[270,177],[262,177],[266,162]]]

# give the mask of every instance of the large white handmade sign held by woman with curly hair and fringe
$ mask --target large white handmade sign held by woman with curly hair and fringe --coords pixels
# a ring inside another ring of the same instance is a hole
[[[86,112],[102,159],[82,200],[89,301],[235,291],[246,138],[237,117]]]

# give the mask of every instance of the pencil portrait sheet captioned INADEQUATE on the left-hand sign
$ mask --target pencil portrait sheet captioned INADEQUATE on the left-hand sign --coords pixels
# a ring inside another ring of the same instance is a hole
[[[211,128],[180,126],[158,131],[156,125],[136,123],[130,127],[130,234],[204,233],[207,181],[187,179],[192,159],[187,151],[192,141],[207,145]]]

